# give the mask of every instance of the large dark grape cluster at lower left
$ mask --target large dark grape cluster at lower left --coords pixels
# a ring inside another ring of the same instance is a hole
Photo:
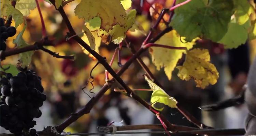
[[[46,100],[41,77],[26,70],[17,76],[7,73],[1,78],[1,126],[14,134],[27,132],[36,125],[33,118],[42,115],[39,107]],[[36,136],[31,129],[30,135]]]

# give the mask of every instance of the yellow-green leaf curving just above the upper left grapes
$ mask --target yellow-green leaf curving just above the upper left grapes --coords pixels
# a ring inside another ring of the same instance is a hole
[[[1,9],[1,17],[3,16],[12,16],[14,21],[15,21],[15,27],[17,28],[20,24],[23,23],[24,21],[24,17],[23,14],[17,10],[16,8],[14,8],[12,5],[10,4],[4,4],[3,8]]]

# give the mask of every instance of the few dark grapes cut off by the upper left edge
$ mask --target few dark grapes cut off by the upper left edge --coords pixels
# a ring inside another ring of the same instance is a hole
[[[1,51],[5,51],[6,49],[6,39],[8,39],[8,37],[12,37],[16,34],[16,28],[15,27],[8,27],[6,28],[4,26],[4,19],[1,18]]]

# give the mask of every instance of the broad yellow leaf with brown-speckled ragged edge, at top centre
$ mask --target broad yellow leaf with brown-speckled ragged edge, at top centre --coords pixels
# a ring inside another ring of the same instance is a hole
[[[126,12],[120,0],[81,0],[75,8],[75,15],[85,21],[100,17],[100,28],[107,32],[116,24],[124,26],[126,23]]]

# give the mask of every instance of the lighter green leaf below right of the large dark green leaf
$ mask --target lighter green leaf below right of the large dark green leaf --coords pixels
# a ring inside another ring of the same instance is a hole
[[[224,48],[226,49],[237,48],[238,46],[246,42],[248,38],[247,30],[249,27],[250,20],[247,20],[242,25],[231,21],[228,24],[228,32],[220,41],[218,41],[218,43],[224,44]]]

